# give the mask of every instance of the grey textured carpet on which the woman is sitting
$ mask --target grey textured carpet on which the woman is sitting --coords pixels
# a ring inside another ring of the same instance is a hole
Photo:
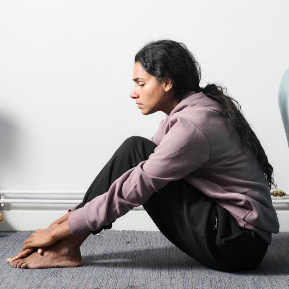
[[[204,267],[160,232],[113,230],[89,235],[81,246],[80,267],[11,267],[5,259],[18,253],[31,233],[0,232],[1,289],[289,288],[289,232],[272,235],[256,269],[237,273]]]

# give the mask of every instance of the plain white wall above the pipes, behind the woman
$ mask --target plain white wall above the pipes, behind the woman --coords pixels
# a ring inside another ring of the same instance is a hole
[[[129,97],[146,42],[184,42],[201,85],[224,85],[289,192],[279,107],[289,67],[287,1],[1,1],[0,187],[86,191],[131,135],[165,117]]]

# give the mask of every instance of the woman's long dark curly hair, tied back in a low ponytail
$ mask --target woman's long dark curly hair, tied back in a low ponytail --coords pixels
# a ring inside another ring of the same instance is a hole
[[[154,75],[159,83],[164,77],[169,78],[173,83],[174,99],[181,101],[189,91],[202,91],[219,102],[228,124],[235,128],[241,142],[253,152],[266,176],[269,188],[272,189],[272,185],[277,188],[272,177],[273,167],[269,164],[260,141],[243,116],[241,105],[228,96],[226,88],[216,84],[207,84],[204,88],[200,88],[200,64],[184,43],[169,39],[149,42],[136,53],[134,61],[139,61],[146,72]]]

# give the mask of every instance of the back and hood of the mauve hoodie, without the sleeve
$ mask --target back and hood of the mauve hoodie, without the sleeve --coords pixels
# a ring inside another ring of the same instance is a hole
[[[266,177],[253,153],[232,127],[226,127],[221,105],[202,92],[190,94],[166,117],[182,117],[196,125],[210,144],[210,159],[185,179],[228,210],[244,228],[253,229],[268,243],[279,232]]]

